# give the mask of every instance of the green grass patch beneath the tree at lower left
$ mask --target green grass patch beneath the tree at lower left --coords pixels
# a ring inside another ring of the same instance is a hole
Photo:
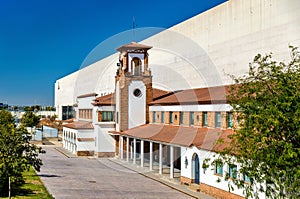
[[[44,187],[41,179],[36,174],[33,168],[23,173],[25,184],[18,189],[12,190],[11,198],[22,198],[22,199],[53,199]],[[7,197],[0,197],[7,198]]]

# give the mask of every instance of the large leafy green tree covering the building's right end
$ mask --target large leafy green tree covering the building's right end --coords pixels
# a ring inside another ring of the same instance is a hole
[[[247,197],[300,197],[300,53],[290,48],[289,63],[258,54],[247,75],[232,76],[227,97],[241,123],[221,159],[240,165],[232,181]]]

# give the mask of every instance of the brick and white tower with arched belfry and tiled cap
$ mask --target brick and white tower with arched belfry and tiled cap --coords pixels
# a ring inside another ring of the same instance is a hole
[[[151,46],[131,42],[120,46],[116,73],[116,130],[124,131],[149,123],[152,75],[148,68]]]

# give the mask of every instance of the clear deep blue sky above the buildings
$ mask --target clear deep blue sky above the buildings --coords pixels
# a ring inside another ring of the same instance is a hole
[[[137,28],[169,28],[225,1],[0,0],[0,102],[53,105],[55,81],[133,18]]]

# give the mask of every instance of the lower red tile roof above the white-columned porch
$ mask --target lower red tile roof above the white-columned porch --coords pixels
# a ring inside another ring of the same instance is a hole
[[[121,135],[185,147],[196,146],[199,149],[210,151],[220,151],[228,146],[230,140],[227,136],[232,133],[232,130],[163,124],[145,124],[124,132],[119,132]],[[217,142],[220,138],[224,139],[223,143]]]

